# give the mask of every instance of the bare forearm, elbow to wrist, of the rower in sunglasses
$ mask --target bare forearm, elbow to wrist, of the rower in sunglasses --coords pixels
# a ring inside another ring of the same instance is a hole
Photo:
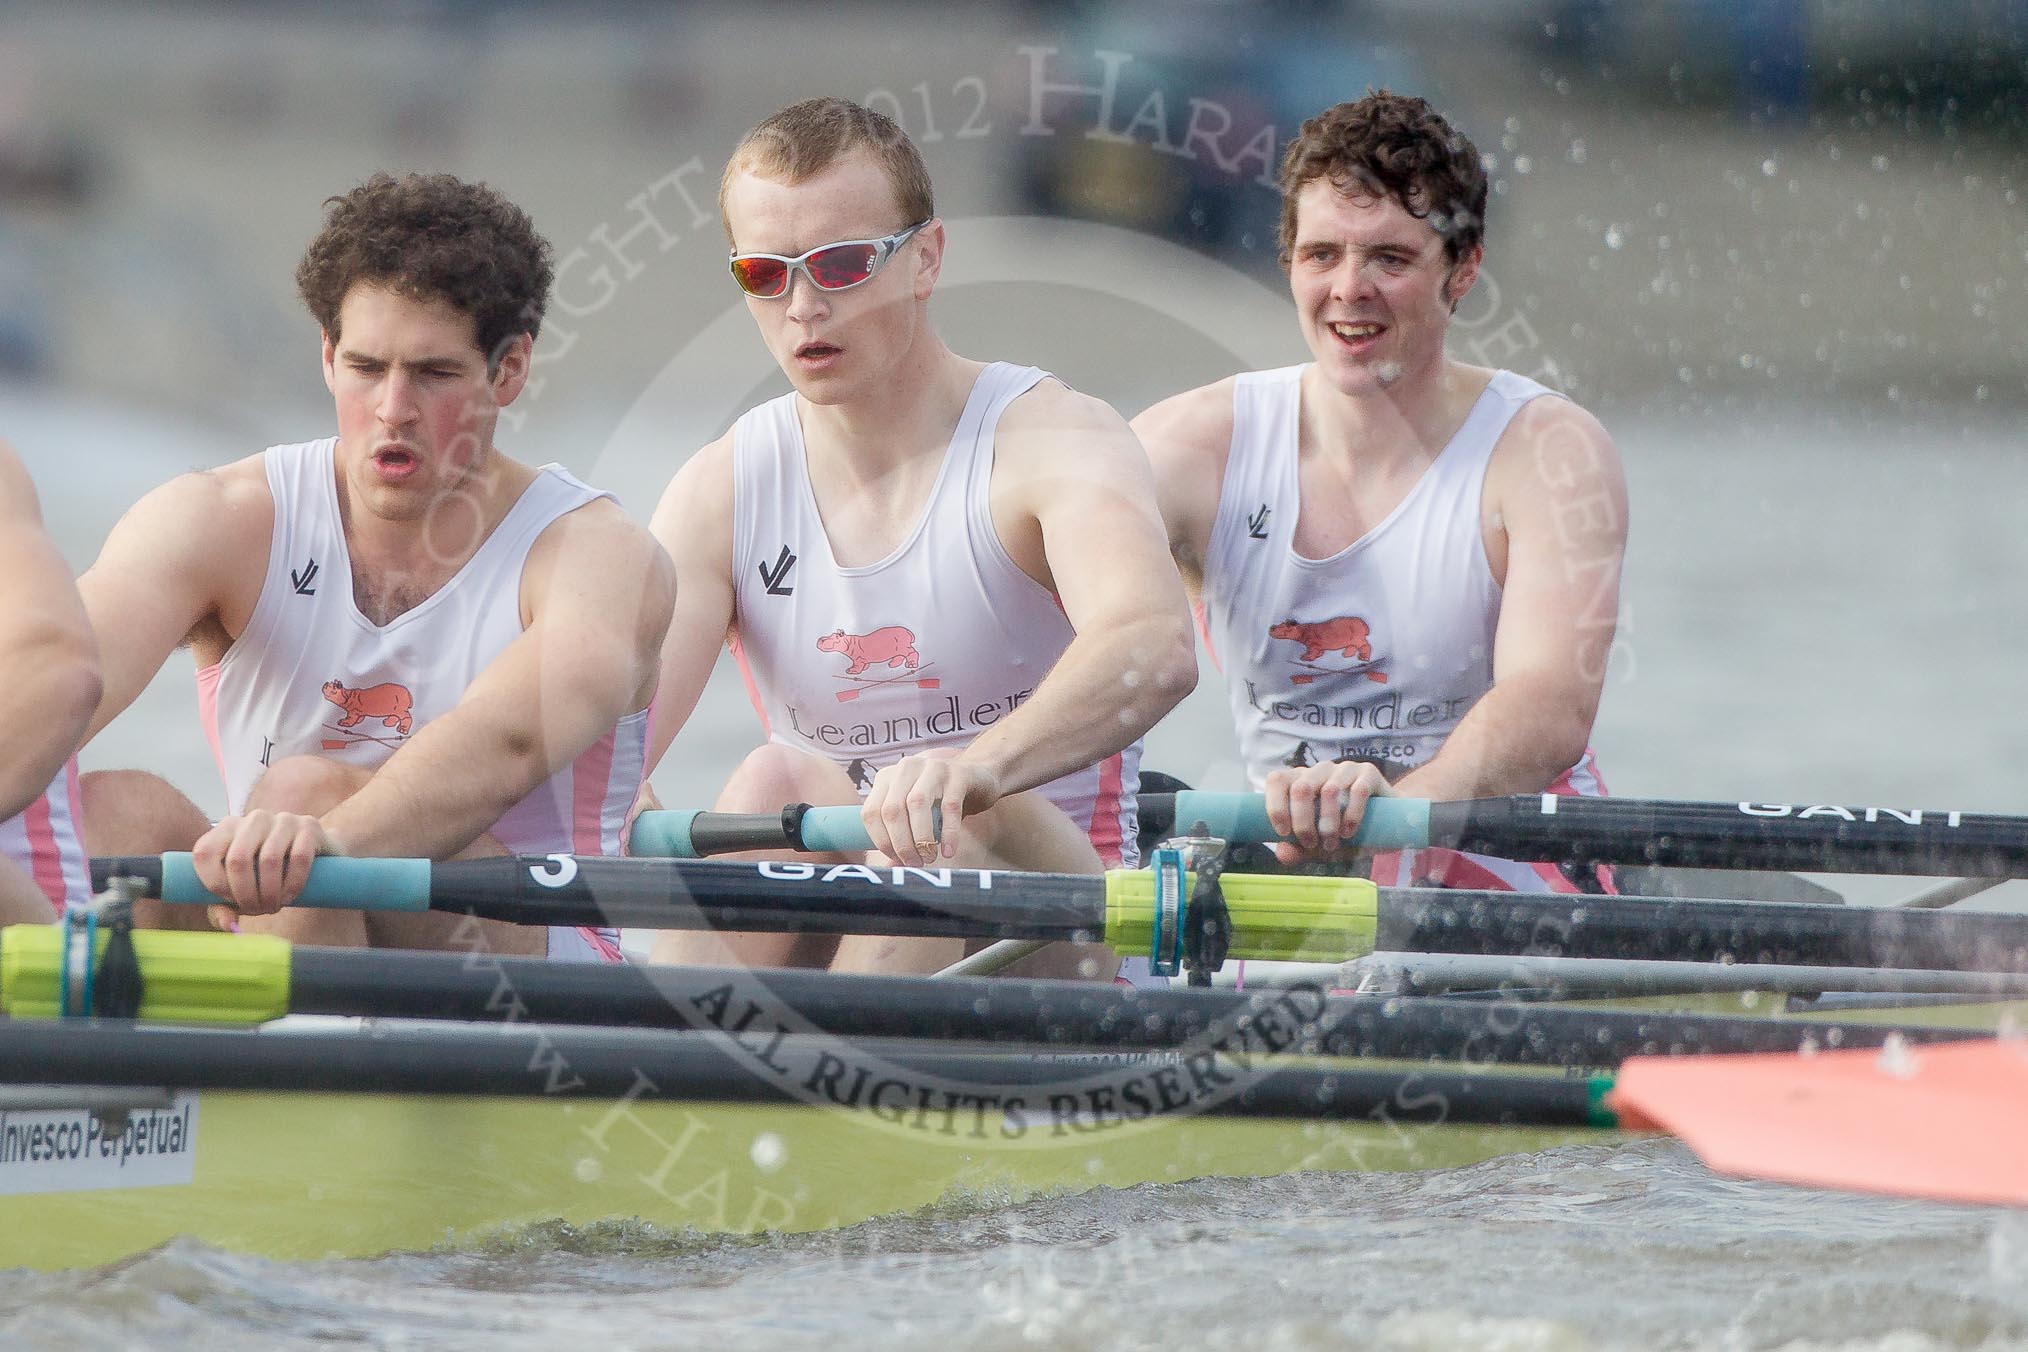
[[[1071,641],[1034,695],[959,758],[992,770],[1002,795],[1024,793],[1130,746],[1194,683],[1186,622],[1095,624]]]

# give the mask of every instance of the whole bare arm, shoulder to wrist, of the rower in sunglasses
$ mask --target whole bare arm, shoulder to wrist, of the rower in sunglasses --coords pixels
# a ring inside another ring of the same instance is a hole
[[[1077,630],[1034,695],[957,756],[1010,795],[1146,734],[1190,693],[1197,655],[1148,460],[1105,403],[1046,383],[1008,409],[994,521],[1018,561],[1032,543],[1022,535],[1038,535],[1048,586]]]

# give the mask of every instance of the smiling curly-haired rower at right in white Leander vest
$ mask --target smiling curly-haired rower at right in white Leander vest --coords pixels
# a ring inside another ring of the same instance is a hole
[[[1336,853],[1375,793],[1604,793],[1588,742],[1626,484],[1582,407],[1446,353],[1484,211],[1478,150],[1426,101],[1312,118],[1282,162],[1280,245],[1314,361],[1134,422],[1249,774],[1300,845],[1284,857]],[[1610,886],[1442,849],[1375,880]]]

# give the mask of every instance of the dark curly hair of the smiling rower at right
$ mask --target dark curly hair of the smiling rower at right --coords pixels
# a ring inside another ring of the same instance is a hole
[[[1296,197],[1316,178],[1341,193],[1391,197],[1428,219],[1452,264],[1484,241],[1487,166],[1426,99],[1369,89],[1302,124],[1282,156],[1284,268],[1296,249]]]

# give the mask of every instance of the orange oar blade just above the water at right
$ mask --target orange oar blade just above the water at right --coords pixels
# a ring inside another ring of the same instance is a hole
[[[1722,1174],[2028,1206],[2028,1042],[1635,1056],[1606,1101]]]

